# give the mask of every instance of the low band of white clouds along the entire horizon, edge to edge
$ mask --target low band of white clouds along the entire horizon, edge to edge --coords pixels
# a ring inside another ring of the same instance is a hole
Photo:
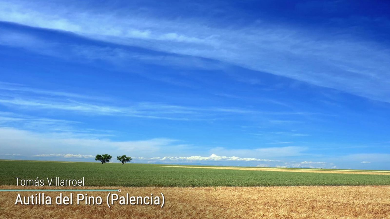
[[[109,139],[80,138],[61,133],[37,133],[32,131],[18,130],[9,127],[0,127],[0,154],[2,159],[9,156],[53,159],[89,159],[90,154],[108,153],[112,155],[126,154],[134,158],[135,162],[165,162],[165,163],[200,163],[213,164],[218,162],[221,165],[232,165],[238,162],[245,162],[247,166],[264,167],[284,167],[284,168],[337,168],[342,164],[342,168],[348,168],[351,163],[362,157],[375,158],[378,162],[388,162],[389,154],[349,154],[336,157],[328,157],[324,161],[310,161],[307,157],[318,157],[316,154],[305,154],[305,147],[272,147],[255,149],[226,149],[213,148],[209,151],[199,151],[199,153],[211,153],[210,156],[181,156],[180,154],[191,154],[191,145],[183,145],[178,140],[169,138],[154,138],[149,140],[135,141],[113,141]],[[17,152],[23,151],[23,154]],[[219,154],[219,155],[217,155]],[[292,159],[304,161],[291,161]],[[277,159],[275,159],[275,158]],[[310,159],[310,158],[309,158]],[[324,158],[323,158],[324,159]],[[93,159],[92,159],[93,160]],[[262,163],[262,162],[271,162]],[[240,164],[240,163],[239,163]]]

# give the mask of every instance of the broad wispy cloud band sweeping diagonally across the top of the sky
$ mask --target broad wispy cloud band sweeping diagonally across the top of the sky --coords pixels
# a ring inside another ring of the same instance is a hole
[[[387,48],[344,35],[321,40],[310,30],[262,23],[261,27],[216,28],[206,21],[145,18],[79,11],[71,4],[0,2],[0,20],[148,49],[212,58],[387,101]],[[92,19],[93,18],[93,19]],[[185,24],[185,25],[184,25]],[[211,23],[212,24],[212,23]],[[323,33],[329,34],[329,33]],[[28,46],[28,45],[27,45]],[[284,54],[285,58],[280,58]]]

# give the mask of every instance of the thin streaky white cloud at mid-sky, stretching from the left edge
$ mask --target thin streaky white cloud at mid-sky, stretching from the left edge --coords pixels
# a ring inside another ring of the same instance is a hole
[[[4,84],[4,83],[3,83]],[[229,115],[308,115],[297,111],[259,111],[248,108],[218,106],[181,106],[157,102],[117,104],[100,98],[68,92],[10,86],[0,83],[0,105],[23,110],[71,111],[85,115],[128,116],[165,120],[214,120]],[[34,93],[34,95],[31,95]],[[67,98],[59,98],[67,97]],[[297,134],[297,133],[294,133]]]

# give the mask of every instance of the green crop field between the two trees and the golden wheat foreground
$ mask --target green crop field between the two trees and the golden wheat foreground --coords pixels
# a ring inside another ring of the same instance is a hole
[[[80,179],[86,186],[279,186],[279,185],[390,185],[390,175],[248,171],[161,167],[156,164],[48,162],[0,160],[0,185],[21,179]]]

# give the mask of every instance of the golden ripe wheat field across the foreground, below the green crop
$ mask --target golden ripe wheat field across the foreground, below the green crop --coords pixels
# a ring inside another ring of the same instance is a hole
[[[16,189],[15,186],[0,186]],[[26,189],[26,188],[25,188]],[[64,189],[42,187],[41,189]],[[83,187],[78,189],[118,189]],[[390,218],[390,186],[124,187],[117,194],[163,193],[165,205],[14,205],[0,194],[0,218]],[[31,195],[35,192],[23,192]],[[67,192],[68,193],[68,192]],[[63,193],[63,194],[67,194]],[[74,192],[77,193],[77,192]],[[59,192],[46,192],[55,197]],[[89,192],[105,197],[107,192]],[[104,200],[104,198],[103,198]]]

